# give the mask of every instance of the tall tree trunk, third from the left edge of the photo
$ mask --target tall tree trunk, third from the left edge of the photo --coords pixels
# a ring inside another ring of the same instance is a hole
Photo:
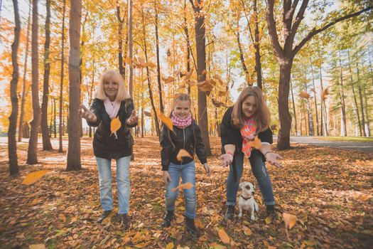
[[[32,85],[31,92],[33,97],[33,120],[31,121],[30,140],[28,142],[27,164],[38,163],[38,132],[40,127],[40,105],[39,105],[39,83],[38,83],[38,0],[33,0],[33,26],[32,26]]]

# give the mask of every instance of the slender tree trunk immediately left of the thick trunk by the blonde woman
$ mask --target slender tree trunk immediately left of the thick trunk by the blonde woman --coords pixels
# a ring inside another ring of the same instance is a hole
[[[65,13],[66,0],[63,0],[63,26],[62,26],[62,48],[61,48],[61,80],[60,80],[60,122],[58,124],[59,147],[58,152],[63,152],[63,66],[65,64]]]

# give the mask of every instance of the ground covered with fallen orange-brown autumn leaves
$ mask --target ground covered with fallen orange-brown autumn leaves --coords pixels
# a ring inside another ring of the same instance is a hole
[[[58,141],[53,141],[58,147]],[[97,167],[91,140],[82,139],[82,171],[65,171],[65,153],[42,152],[40,164],[25,164],[26,142],[18,143],[21,173],[10,177],[6,139],[0,140],[0,248],[371,248],[373,243],[373,155],[341,149],[292,144],[281,152],[283,168],[267,165],[274,185],[279,218],[266,218],[260,195],[259,214],[251,221],[245,214],[224,223],[227,168],[217,156],[220,140],[211,137],[212,176],[197,166],[198,218],[202,237],[188,235],[183,222],[183,198],[176,203],[176,221],[161,228],[164,214],[164,185],[161,181],[159,144],[156,137],[136,139],[135,161],[131,161],[132,225],[121,231],[116,216],[98,225]],[[245,162],[243,179],[256,180]],[[26,174],[50,170],[35,184],[21,184]],[[113,167],[115,171],[115,166]],[[113,180],[115,174],[113,174]],[[113,181],[114,205],[117,184]],[[298,217],[287,240],[281,212]],[[233,243],[222,243],[223,228]],[[222,247],[220,247],[222,245]],[[223,247],[224,246],[224,247]]]

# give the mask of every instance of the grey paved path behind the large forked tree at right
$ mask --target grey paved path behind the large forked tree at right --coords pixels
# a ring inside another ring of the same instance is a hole
[[[274,137],[275,140],[277,137]],[[352,149],[360,152],[373,153],[373,142],[351,142],[351,141],[327,141],[317,137],[291,136],[290,142],[301,144],[312,144],[321,147],[333,147],[340,149]]]

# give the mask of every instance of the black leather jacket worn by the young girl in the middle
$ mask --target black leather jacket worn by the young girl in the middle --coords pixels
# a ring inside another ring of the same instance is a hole
[[[170,162],[173,164],[188,164],[190,161],[193,161],[193,159],[189,157],[182,157],[182,161],[178,161],[176,156],[180,149],[185,149],[191,156],[193,156],[195,152],[201,164],[207,162],[205,145],[202,143],[200,127],[198,127],[195,120],[192,120],[192,124],[184,129],[180,129],[174,125],[173,132],[163,124],[160,142],[162,147],[161,164],[163,171],[168,170]]]

